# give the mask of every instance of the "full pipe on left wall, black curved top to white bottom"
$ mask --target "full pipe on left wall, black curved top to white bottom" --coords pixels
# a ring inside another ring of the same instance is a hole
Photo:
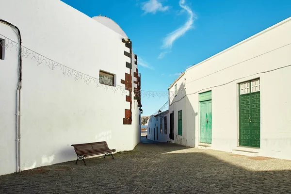
[[[20,30],[17,28],[17,26],[9,23],[8,21],[5,21],[3,19],[0,19],[1,23],[4,23],[13,29],[16,29],[18,32],[18,43],[19,43],[19,53],[18,53],[18,83],[17,83],[17,90],[16,90],[16,172],[20,172],[20,139],[21,139],[21,133],[20,133],[20,124],[21,124],[21,103],[20,103],[20,96],[21,96],[21,81],[22,81],[22,40],[21,40],[21,34]]]

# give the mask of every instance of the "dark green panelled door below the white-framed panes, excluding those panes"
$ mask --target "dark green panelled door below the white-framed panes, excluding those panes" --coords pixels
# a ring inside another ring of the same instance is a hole
[[[240,95],[240,146],[260,147],[260,93]]]

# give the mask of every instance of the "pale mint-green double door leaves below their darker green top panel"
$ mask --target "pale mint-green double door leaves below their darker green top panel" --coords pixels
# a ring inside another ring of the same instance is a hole
[[[200,142],[212,142],[212,105],[211,100],[200,102]]]

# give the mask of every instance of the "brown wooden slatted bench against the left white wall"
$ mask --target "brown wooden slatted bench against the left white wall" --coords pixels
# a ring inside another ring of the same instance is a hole
[[[87,144],[74,144],[75,152],[77,154],[77,161],[81,159],[84,164],[86,165],[84,158],[87,156],[94,156],[98,154],[105,154],[104,158],[107,154],[111,154],[112,159],[113,155],[112,153],[115,152],[115,149],[109,149],[106,142],[94,142],[94,143],[87,143]]]

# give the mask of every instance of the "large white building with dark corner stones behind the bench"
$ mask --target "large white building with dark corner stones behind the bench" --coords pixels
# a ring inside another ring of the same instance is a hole
[[[76,160],[72,144],[140,141],[140,74],[125,32],[60,0],[0,0],[0,175]],[[100,78],[100,82],[99,79]]]

